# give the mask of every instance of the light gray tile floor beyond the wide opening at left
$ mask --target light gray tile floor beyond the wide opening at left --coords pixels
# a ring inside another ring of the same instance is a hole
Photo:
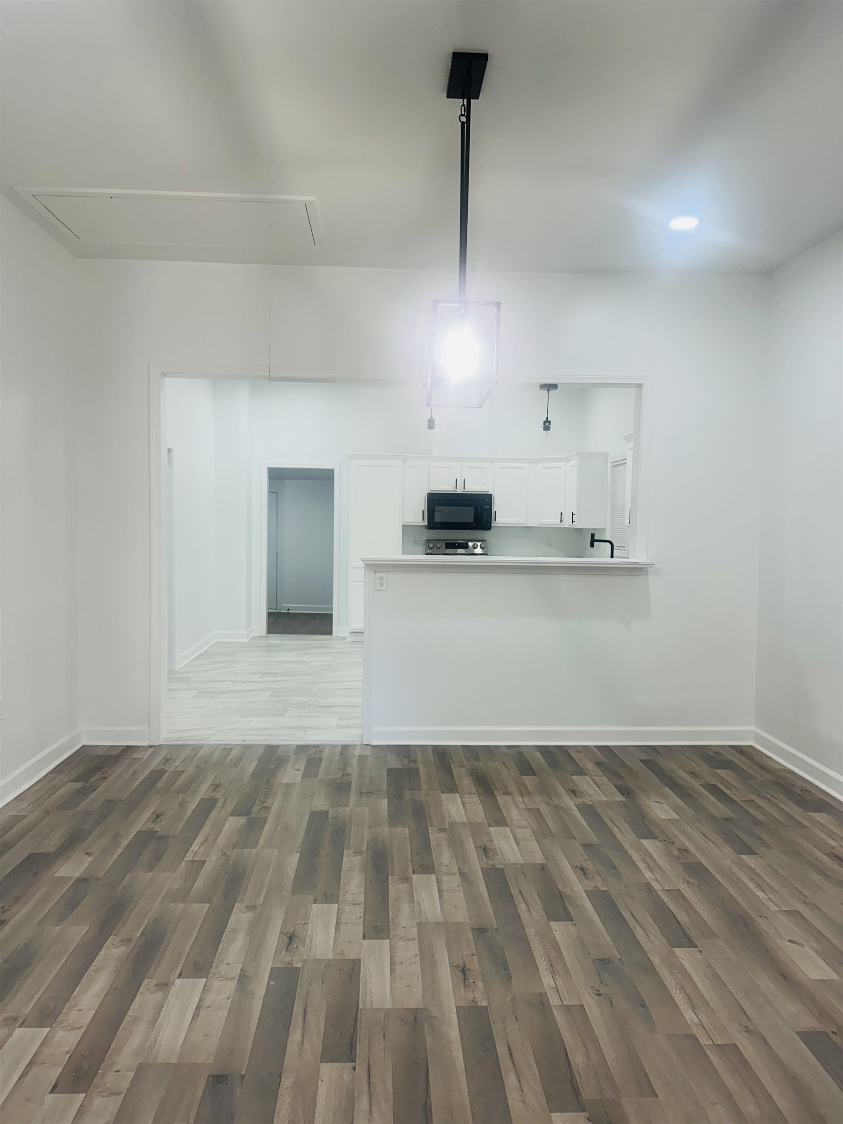
[[[359,742],[363,645],[337,636],[218,642],[170,673],[169,742]]]

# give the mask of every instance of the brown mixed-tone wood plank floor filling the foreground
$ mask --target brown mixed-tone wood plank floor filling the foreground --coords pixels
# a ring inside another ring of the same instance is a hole
[[[0,826],[3,1124],[821,1124],[841,815],[755,751],[81,751]]]

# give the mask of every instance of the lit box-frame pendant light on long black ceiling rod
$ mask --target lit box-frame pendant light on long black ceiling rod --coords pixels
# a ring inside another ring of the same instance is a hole
[[[468,300],[471,102],[480,97],[489,55],[454,51],[447,97],[460,106],[460,269],[456,300],[433,302],[433,356],[427,405],[480,407],[498,382],[500,301]]]

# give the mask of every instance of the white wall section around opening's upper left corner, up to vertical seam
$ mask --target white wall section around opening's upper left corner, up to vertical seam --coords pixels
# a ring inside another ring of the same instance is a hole
[[[90,740],[149,723],[149,363],[219,369],[266,355],[255,266],[76,261],[80,293],[79,680]]]

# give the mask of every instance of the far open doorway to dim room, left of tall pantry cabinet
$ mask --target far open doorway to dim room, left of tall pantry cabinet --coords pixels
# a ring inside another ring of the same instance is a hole
[[[334,470],[268,470],[266,633],[334,631]]]

